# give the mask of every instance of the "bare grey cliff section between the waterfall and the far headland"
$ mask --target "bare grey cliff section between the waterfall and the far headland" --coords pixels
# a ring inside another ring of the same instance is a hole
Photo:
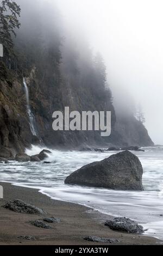
[[[56,86],[54,75],[46,75],[40,81],[36,69],[26,77],[29,88],[30,103],[36,118],[37,131],[42,142],[48,147],[83,148],[103,147],[108,142],[97,131],[53,131],[52,114],[54,111],[64,113],[65,107],[71,111],[111,111],[112,127],[115,124],[115,111],[110,101],[110,92],[104,89],[103,96],[97,97],[93,88],[84,86],[80,75],[62,78]],[[80,86],[77,86],[80,84]],[[86,82],[87,84],[87,82]]]

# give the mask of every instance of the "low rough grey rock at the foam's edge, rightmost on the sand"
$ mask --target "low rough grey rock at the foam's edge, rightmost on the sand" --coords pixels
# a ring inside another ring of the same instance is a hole
[[[142,225],[137,224],[137,222],[129,218],[114,218],[114,220],[106,221],[105,225],[112,230],[127,233],[142,234],[144,232]]]

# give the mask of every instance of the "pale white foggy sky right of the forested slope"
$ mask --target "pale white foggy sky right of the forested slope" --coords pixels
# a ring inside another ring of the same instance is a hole
[[[84,32],[93,50],[103,54],[113,96],[127,88],[142,104],[149,135],[156,144],[163,144],[163,2],[54,2],[67,26],[79,35]]]

